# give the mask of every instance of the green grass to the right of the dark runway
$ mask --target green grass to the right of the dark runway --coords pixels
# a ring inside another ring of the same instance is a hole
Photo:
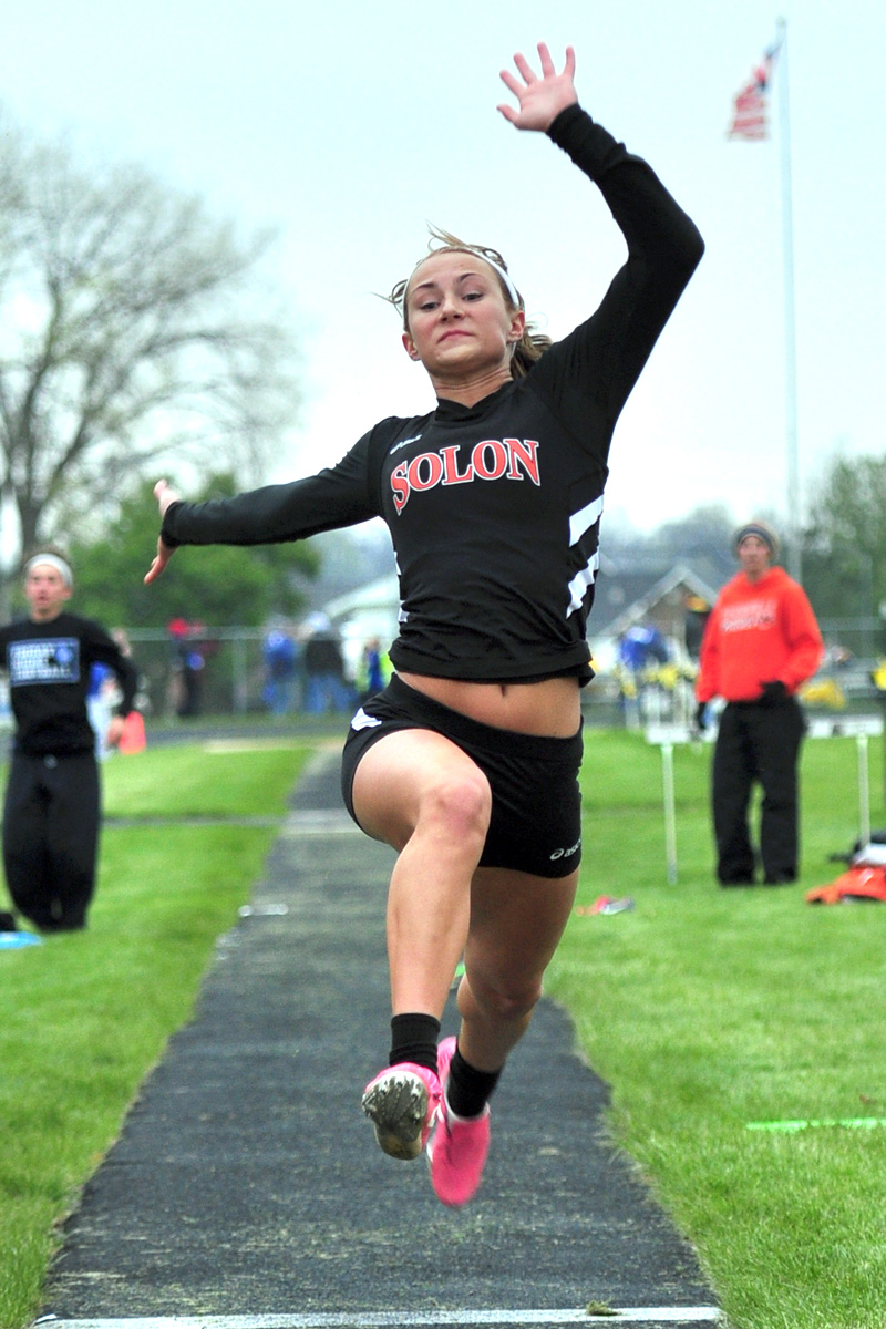
[[[883,825],[879,740],[870,759]],[[668,885],[658,750],[590,735],[579,900],[631,894],[636,909],[575,916],[547,991],[612,1086],[612,1132],[699,1249],[729,1324],[882,1329],[886,1128],[748,1130],[886,1119],[886,908],[804,900],[857,836],[855,740],[805,744],[804,870],[789,888],[716,886],[708,764],[707,747],[675,751]]]

